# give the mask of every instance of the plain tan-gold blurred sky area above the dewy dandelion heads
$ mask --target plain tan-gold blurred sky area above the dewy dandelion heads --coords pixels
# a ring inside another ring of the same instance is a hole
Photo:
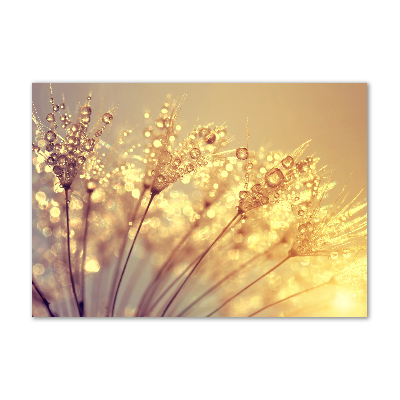
[[[250,150],[264,145],[290,152],[312,139],[307,153],[320,157],[338,182],[337,195],[353,172],[346,191],[367,196],[366,83],[55,83],[54,100],[62,94],[70,107],[83,103],[92,91],[94,115],[119,104],[113,133],[145,126],[144,112],[156,116],[168,94],[186,94],[178,122],[186,134],[195,124],[228,126],[236,137],[232,148],[246,146],[249,119]],[[32,99],[39,115],[51,111],[48,83],[34,83]],[[74,113],[74,109],[70,110]],[[109,141],[112,143],[113,138]]]

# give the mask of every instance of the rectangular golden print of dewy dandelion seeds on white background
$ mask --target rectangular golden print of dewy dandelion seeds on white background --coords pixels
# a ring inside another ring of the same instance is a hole
[[[367,316],[366,84],[32,95],[33,316]]]

